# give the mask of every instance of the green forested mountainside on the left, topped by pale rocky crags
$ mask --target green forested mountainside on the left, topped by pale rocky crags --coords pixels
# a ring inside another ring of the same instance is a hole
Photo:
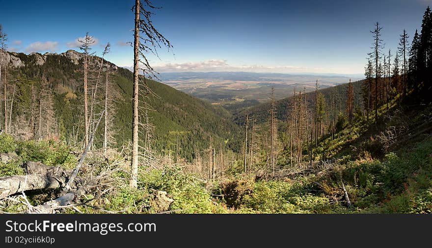
[[[7,111],[10,111],[9,104],[12,103],[9,133],[22,139],[40,135],[43,139],[54,138],[63,140],[71,146],[79,146],[83,139],[82,54],[68,50],[61,54],[27,55],[8,52],[0,56],[16,61],[7,75]],[[102,73],[99,73],[98,69],[100,64],[104,63],[110,67],[108,83],[111,99],[108,115],[112,124],[109,127],[109,146],[121,148],[132,137],[130,99],[133,74],[100,57],[93,56],[90,61],[92,69],[89,92],[92,91],[93,95],[93,88],[97,90],[93,104],[93,121],[99,118],[103,110],[102,91],[105,90],[106,69],[104,66]],[[99,85],[96,85],[98,74],[103,74],[99,75],[103,80],[100,79]],[[153,126],[151,147],[157,153],[171,153],[175,156],[177,151],[179,158],[191,161],[195,153],[202,152],[212,145],[225,147],[225,144],[228,144],[227,149],[239,149],[235,143],[239,128],[232,122],[232,117],[226,110],[157,81],[148,79],[147,83],[156,94],[148,102],[148,119]],[[8,119],[9,115],[10,113]],[[1,116],[1,123],[4,123],[4,115]],[[102,123],[94,140],[95,149],[102,147],[103,130]]]

